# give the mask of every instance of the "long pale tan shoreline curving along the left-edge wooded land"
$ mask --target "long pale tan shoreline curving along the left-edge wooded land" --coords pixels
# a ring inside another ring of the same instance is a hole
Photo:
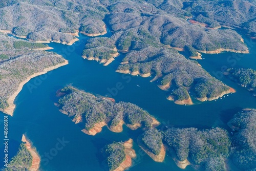
[[[16,107],[16,105],[14,104],[14,100],[15,100],[16,96],[19,94],[19,92],[22,91],[23,86],[30,79],[32,79],[34,77],[37,77],[39,75],[42,75],[42,74],[46,74],[47,72],[55,70],[59,67],[68,65],[68,63],[69,63],[68,60],[66,60],[66,59],[64,59],[64,60],[65,60],[64,62],[59,63],[59,64],[57,64],[55,66],[52,66],[52,67],[49,67],[49,68],[45,68],[43,71],[38,72],[38,73],[34,73],[33,75],[28,76],[27,79],[25,79],[24,81],[20,82],[19,86],[18,86],[18,89],[13,93],[13,95],[11,95],[11,97],[8,98],[7,103],[9,104],[9,107],[4,110],[4,113],[7,114],[7,115],[13,116],[13,112],[14,112],[15,107]]]

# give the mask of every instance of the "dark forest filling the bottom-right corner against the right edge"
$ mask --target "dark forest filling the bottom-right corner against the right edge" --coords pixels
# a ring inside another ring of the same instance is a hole
[[[242,111],[229,122],[238,131],[232,137],[233,162],[241,169],[256,168],[256,110]]]

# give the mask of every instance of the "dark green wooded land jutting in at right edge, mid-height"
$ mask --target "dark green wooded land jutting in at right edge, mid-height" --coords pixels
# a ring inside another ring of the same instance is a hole
[[[245,87],[247,90],[253,92],[256,97],[256,71],[244,68],[229,68],[224,72],[231,80],[236,81],[240,86]]]

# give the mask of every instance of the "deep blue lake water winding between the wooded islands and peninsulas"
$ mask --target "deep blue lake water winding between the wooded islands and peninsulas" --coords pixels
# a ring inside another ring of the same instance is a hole
[[[110,35],[109,32],[107,36]],[[167,168],[182,170],[176,166],[168,153],[163,163],[154,162],[142,153],[136,143],[138,135],[142,133],[141,129],[131,131],[124,126],[122,133],[113,133],[104,127],[102,132],[96,136],[82,133],[82,125],[74,124],[53,104],[57,101],[55,92],[69,84],[93,94],[112,96],[116,101],[135,103],[162,123],[158,127],[159,129],[173,125],[198,128],[220,126],[230,132],[226,123],[235,113],[243,108],[256,108],[256,98],[249,91],[224,76],[220,79],[236,89],[237,93],[230,94],[222,100],[190,106],[177,105],[166,99],[166,92],[160,90],[156,83],[150,82],[152,77],[142,78],[116,73],[115,70],[123,55],[117,57],[107,67],[100,65],[97,61],[81,58],[84,44],[88,38],[80,35],[80,41],[73,46],[49,44],[54,48],[51,51],[59,53],[69,60],[69,65],[31,79],[15,99],[16,110],[13,117],[9,117],[9,148],[11,150],[9,158],[16,153],[22,134],[26,134],[41,156],[40,170],[104,170],[101,148],[113,141],[125,141],[133,138],[138,157],[133,160],[130,170],[166,170]],[[246,37],[244,39],[247,46],[251,46],[250,54],[240,55],[230,52],[219,55],[203,54],[202,57],[205,59],[198,60],[199,63],[212,76],[217,77],[218,74],[215,73],[219,73],[218,71],[221,71],[223,66],[256,69],[256,41]],[[65,53],[65,50],[68,53]],[[236,65],[231,66],[234,62],[230,62],[232,58],[229,56],[237,58]],[[238,57],[240,57],[239,60]],[[114,92],[117,83],[122,84],[122,89]],[[136,86],[137,84],[140,87]],[[31,85],[34,85],[33,89],[31,89]],[[3,120],[4,114],[1,114],[0,117]],[[57,150],[56,144],[60,139],[65,139],[68,142]],[[1,155],[3,155],[2,148],[0,149]],[[46,157],[46,153],[49,152],[51,155]],[[2,166],[1,162],[0,167]],[[186,170],[194,169],[188,166]]]

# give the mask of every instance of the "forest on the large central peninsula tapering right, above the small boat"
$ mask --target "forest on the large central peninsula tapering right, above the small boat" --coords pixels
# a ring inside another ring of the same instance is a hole
[[[198,98],[214,98],[229,88],[221,81],[211,77],[196,62],[188,60],[175,50],[162,49],[156,51],[154,48],[147,48],[141,51],[131,51],[125,56],[118,70],[139,71],[146,74],[154,72],[159,77],[160,84],[170,84],[170,94],[178,100],[188,99],[188,91],[195,93]],[[171,90],[175,91],[171,91]]]

